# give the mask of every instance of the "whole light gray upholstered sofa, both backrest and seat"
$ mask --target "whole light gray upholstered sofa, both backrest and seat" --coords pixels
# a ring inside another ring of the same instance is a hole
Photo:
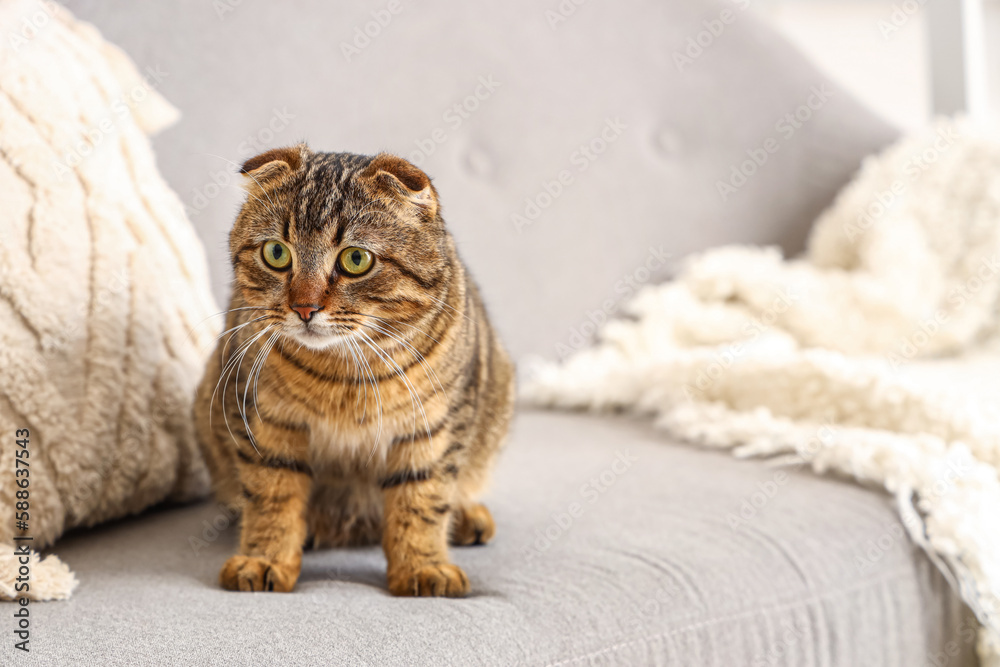
[[[748,4],[67,3],[166,72],[184,117],[160,167],[220,302],[227,160],[390,150],[434,177],[521,359],[584,344],[689,252],[795,252],[896,136]],[[290,595],[222,591],[237,529],[210,501],[73,533],[82,583],[33,608],[18,664],[975,664],[967,611],[877,490],[524,410],[487,502],[497,539],[455,553],[465,600],[391,597],[377,549],[309,552]]]

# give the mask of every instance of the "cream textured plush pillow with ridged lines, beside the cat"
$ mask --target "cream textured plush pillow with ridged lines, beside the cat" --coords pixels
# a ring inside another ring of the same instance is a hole
[[[26,428],[41,548],[207,490],[191,401],[218,309],[147,139],[177,117],[155,78],[53,3],[0,4],[0,35],[0,543]]]

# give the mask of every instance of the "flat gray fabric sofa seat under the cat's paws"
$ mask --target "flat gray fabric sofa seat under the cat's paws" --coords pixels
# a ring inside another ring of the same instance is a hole
[[[609,472],[619,452],[634,460]],[[468,599],[389,596],[378,549],[309,552],[291,594],[225,592],[216,576],[235,529],[196,554],[191,539],[212,538],[204,522],[223,517],[213,505],[171,509],[61,542],[77,593],[33,604],[31,655],[12,657],[8,635],[0,662],[971,664],[961,608],[885,496],[776,473],[625,419],[525,413],[488,498],[495,542],[454,553]],[[584,490],[594,478],[603,491]],[[761,488],[772,492],[763,503]],[[731,515],[755,500],[734,529]],[[572,503],[572,524],[532,551]]]

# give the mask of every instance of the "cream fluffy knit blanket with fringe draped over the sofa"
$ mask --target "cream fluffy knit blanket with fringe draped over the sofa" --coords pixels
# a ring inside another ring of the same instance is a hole
[[[692,257],[522,395],[884,486],[998,667],[998,308],[1000,144],[940,121],[866,160],[803,258]]]

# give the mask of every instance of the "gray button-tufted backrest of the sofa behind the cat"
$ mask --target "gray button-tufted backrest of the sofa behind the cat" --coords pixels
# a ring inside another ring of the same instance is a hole
[[[227,160],[303,139],[413,157],[430,141],[420,166],[515,357],[580,344],[627,280],[667,275],[646,273],[651,246],[675,261],[722,243],[798,250],[861,158],[895,136],[761,25],[752,2],[400,0],[350,60],[341,45],[386,2],[66,4],[141,68],[166,73],[158,89],[184,115],[156,138],[158,162],[205,239],[222,304],[242,196]],[[575,9],[550,24],[559,7]],[[675,54],[694,39],[707,45],[679,71]],[[463,117],[454,106],[481,77],[500,85],[481,88]],[[832,96],[815,98],[793,134],[776,128],[824,85]],[[627,127],[584,157],[615,118]],[[716,183],[768,139],[777,152],[722,201]],[[563,171],[572,183],[519,233],[511,216],[527,199],[544,205]]]

